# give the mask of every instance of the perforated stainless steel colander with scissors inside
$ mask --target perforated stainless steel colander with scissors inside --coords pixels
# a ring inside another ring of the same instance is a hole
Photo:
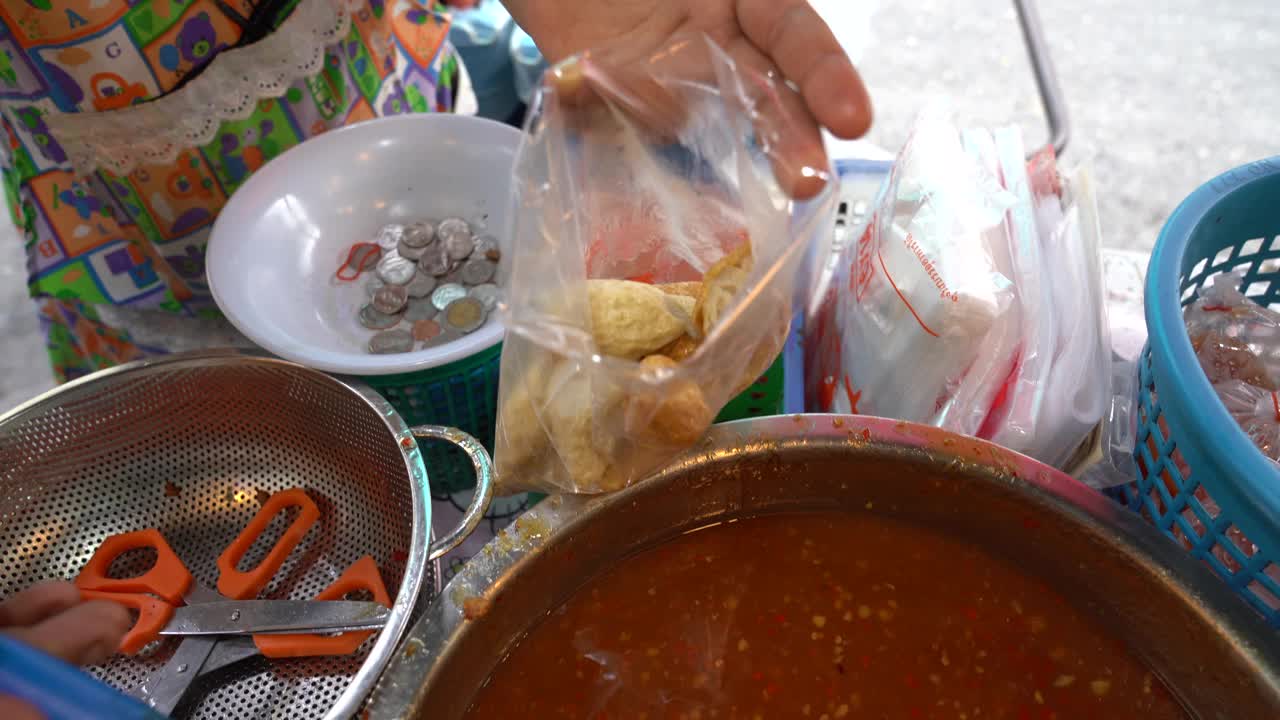
[[[415,434],[462,446],[480,475],[462,527],[430,547],[430,496]],[[438,591],[435,559],[480,520],[488,480],[479,443],[443,428],[410,430],[358,383],[230,352],[125,365],[0,416],[0,594],[74,578],[104,538],[143,528],[157,528],[196,580],[216,587],[219,553],[261,498],[301,487],[320,521],[261,597],[308,600],[372,555],[396,598],[387,626],[351,656],[243,664],[198,688],[179,714],[348,717],[415,609]],[[289,520],[278,516],[241,566],[253,566]],[[113,574],[137,574],[146,562],[124,556]],[[175,639],[152,643],[91,671],[129,691],[175,647]]]

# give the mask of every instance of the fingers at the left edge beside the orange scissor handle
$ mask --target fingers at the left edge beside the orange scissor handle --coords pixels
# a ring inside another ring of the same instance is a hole
[[[74,665],[106,662],[131,626],[124,607],[83,602],[67,582],[40,583],[0,602],[0,633]]]

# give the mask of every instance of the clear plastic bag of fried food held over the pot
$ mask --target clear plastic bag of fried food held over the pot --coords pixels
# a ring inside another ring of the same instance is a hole
[[[780,172],[818,181],[804,204],[774,176],[812,123],[792,92],[701,36],[548,73],[516,161],[499,492],[626,487],[774,361],[832,217],[826,168]]]

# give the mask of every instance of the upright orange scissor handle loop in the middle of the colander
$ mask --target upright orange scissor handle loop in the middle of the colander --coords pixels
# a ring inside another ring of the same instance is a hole
[[[253,542],[266,529],[268,523],[285,507],[297,507],[298,516],[284,529],[280,539],[275,541],[275,547],[266,553],[257,568],[247,573],[237,570],[236,565],[244,557],[248,548],[253,547]],[[307,534],[317,519],[320,519],[320,509],[307,497],[307,493],[298,488],[280,491],[269,497],[257,515],[253,515],[248,525],[241,530],[241,534],[218,556],[218,592],[232,600],[257,597],[257,593],[262,592],[262,588],[271,582],[271,577],[280,570],[284,560],[302,542],[302,537]]]

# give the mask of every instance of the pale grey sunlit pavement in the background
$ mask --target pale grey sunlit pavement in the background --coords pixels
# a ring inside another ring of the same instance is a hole
[[[860,0],[824,1],[849,8]],[[861,47],[859,13],[845,13],[847,44]],[[1092,159],[1105,192],[1107,245],[1149,249],[1190,190],[1280,152],[1275,0],[1041,0],[1041,14],[1075,124],[1071,156]],[[879,145],[896,147],[931,94],[952,96],[968,122],[1012,120],[1043,137],[1011,0],[881,3],[869,37],[860,67],[877,104],[872,140]],[[51,384],[24,277],[20,243],[5,227],[0,411]]]

